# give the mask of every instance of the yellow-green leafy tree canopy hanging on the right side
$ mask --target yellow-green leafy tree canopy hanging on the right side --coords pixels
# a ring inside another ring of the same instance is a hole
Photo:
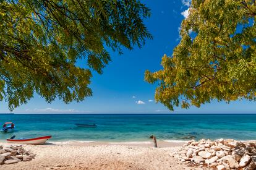
[[[173,56],[163,56],[163,70],[145,72],[147,82],[159,82],[156,101],[171,110],[214,99],[255,101],[255,17],[252,0],[192,0]]]

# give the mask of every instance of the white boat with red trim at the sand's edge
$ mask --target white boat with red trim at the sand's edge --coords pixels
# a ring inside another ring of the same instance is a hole
[[[43,145],[49,138],[51,138],[51,136],[37,137],[37,138],[20,138],[20,139],[14,139],[14,137],[12,137],[12,138],[7,138],[6,140],[8,143]]]

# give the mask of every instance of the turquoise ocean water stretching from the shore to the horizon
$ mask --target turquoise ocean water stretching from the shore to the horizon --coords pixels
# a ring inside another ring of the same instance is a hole
[[[256,139],[256,114],[0,114],[0,123],[12,121],[14,132],[0,133],[0,140],[16,135],[32,138],[52,135],[52,142],[145,142],[192,138]],[[95,123],[96,128],[75,123]]]

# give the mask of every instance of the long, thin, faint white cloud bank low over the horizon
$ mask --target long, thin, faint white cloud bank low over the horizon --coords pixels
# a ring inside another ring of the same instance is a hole
[[[79,111],[76,109],[54,109],[54,108],[44,108],[44,109],[25,109],[27,113],[92,113],[91,111]]]

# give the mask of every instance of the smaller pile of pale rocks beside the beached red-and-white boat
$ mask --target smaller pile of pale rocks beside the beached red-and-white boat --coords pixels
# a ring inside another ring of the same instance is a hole
[[[10,147],[0,146],[0,164],[13,164],[20,161],[30,161],[35,158],[35,154],[25,151],[22,145]]]

